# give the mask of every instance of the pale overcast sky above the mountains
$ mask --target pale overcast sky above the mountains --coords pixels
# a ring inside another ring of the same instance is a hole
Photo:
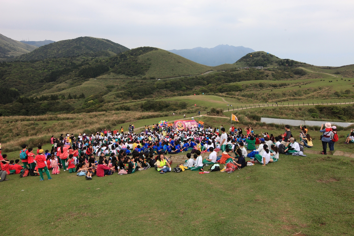
[[[129,48],[250,47],[321,66],[354,64],[353,0],[0,0],[0,34],[92,36]]]

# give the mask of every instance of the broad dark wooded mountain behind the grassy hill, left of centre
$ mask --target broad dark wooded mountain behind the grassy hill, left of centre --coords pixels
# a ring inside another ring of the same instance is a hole
[[[79,57],[84,54],[87,56],[113,56],[127,50],[129,48],[108,39],[79,37],[41,46],[18,59],[21,61],[38,61],[47,58]]]

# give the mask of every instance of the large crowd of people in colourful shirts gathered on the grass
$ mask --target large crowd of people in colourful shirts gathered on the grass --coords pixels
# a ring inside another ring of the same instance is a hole
[[[323,133],[322,154],[326,155],[327,143],[330,150],[334,150],[334,143],[338,140],[336,126],[326,123],[320,132]],[[69,133],[57,138],[52,136],[51,150],[44,150],[38,145],[34,151],[23,144],[19,159],[11,161],[8,161],[6,154],[1,155],[0,143],[0,182],[6,180],[6,174],[23,175],[25,172],[32,176],[39,175],[41,181],[45,173],[50,180],[49,170],[52,170],[52,174],[59,174],[61,169],[85,175],[87,180],[95,175],[131,174],[149,168],[155,168],[163,174],[175,169],[172,168],[172,155],[188,150],[190,152],[186,153],[185,163],[178,163],[176,167],[179,171],[190,169],[207,173],[204,170],[206,166],[225,164],[221,171],[232,172],[248,165],[245,157],[249,151],[253,153],[250,155],[250,165],[259,162],[265,166],[278,161],[279,153],[302,155],[302,146],[312,148],[312,138],[306,126],[300,126],[298,137],[300,143],[296,142],[289,125],[285,125],[283,134],[274,136],[268,132],[256,134],[251,126],[242,129],[232,125],[227,133],[223,126],[204,128],[202,124],[184,130],[178,130],[171,124],[162,127],[154,124],[135,133],[134,125],[130,124],[126,133],[121,127],[113,131],[102,129],[91,134],[79,133],[77,137]],[[346,142],[354,142],[353,131]],[[204,152],[209,153],[205,159],[201,156]]]

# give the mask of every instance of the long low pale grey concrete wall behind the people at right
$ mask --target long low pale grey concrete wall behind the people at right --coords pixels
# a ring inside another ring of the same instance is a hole
[[[264,123],[274,123],[274,124],[279,124],[279,125],[291,125],[291,126],[300,126],[300,125],[307,125],[307,126],[321,126],[322,124],[328,122],[328,121],[313,121],[313,120],[289,120],[289,119],[274,119],[274,118],[266,118],[266,117],[261,117],[261,122]],[[342,126],[342,127],[348,127],[352,125],[353,123],[347,123],[347,122],[330,122],[332,125],[335,126]]]

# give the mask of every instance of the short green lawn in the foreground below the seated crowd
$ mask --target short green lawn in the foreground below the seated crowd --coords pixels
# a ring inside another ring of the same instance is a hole
[[[354,234],[354,160],[346,157],[281,155],[231,174],[52,177],[0,183],[3,235]]]

